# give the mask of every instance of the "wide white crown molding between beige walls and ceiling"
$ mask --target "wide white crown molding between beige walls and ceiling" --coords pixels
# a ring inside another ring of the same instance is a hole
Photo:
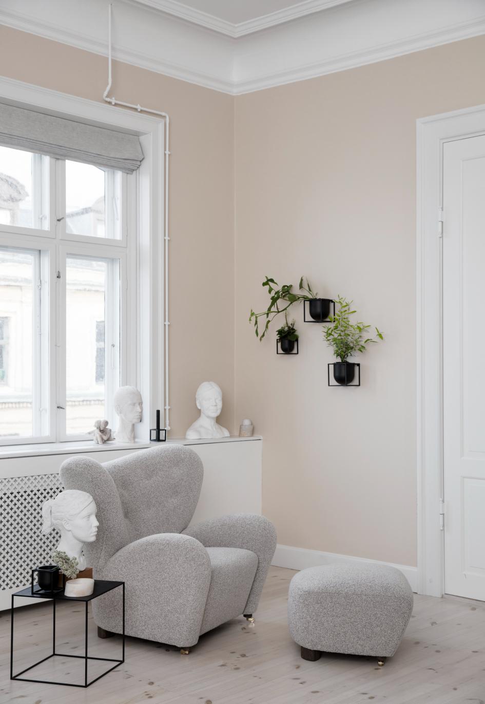
[[[160,4],[173,1],[118,0],[113,58],[231,95],[485,34],[483,0],[460,0],[446,11],[441,0],[334,2],[330,10],[239,39],[160,11]],[[309,9],[311,1],[294,7]],[[2,0],[0,23],[107,56],[106,8],[98,0],[84,0],[82,7],[77,0]]]

